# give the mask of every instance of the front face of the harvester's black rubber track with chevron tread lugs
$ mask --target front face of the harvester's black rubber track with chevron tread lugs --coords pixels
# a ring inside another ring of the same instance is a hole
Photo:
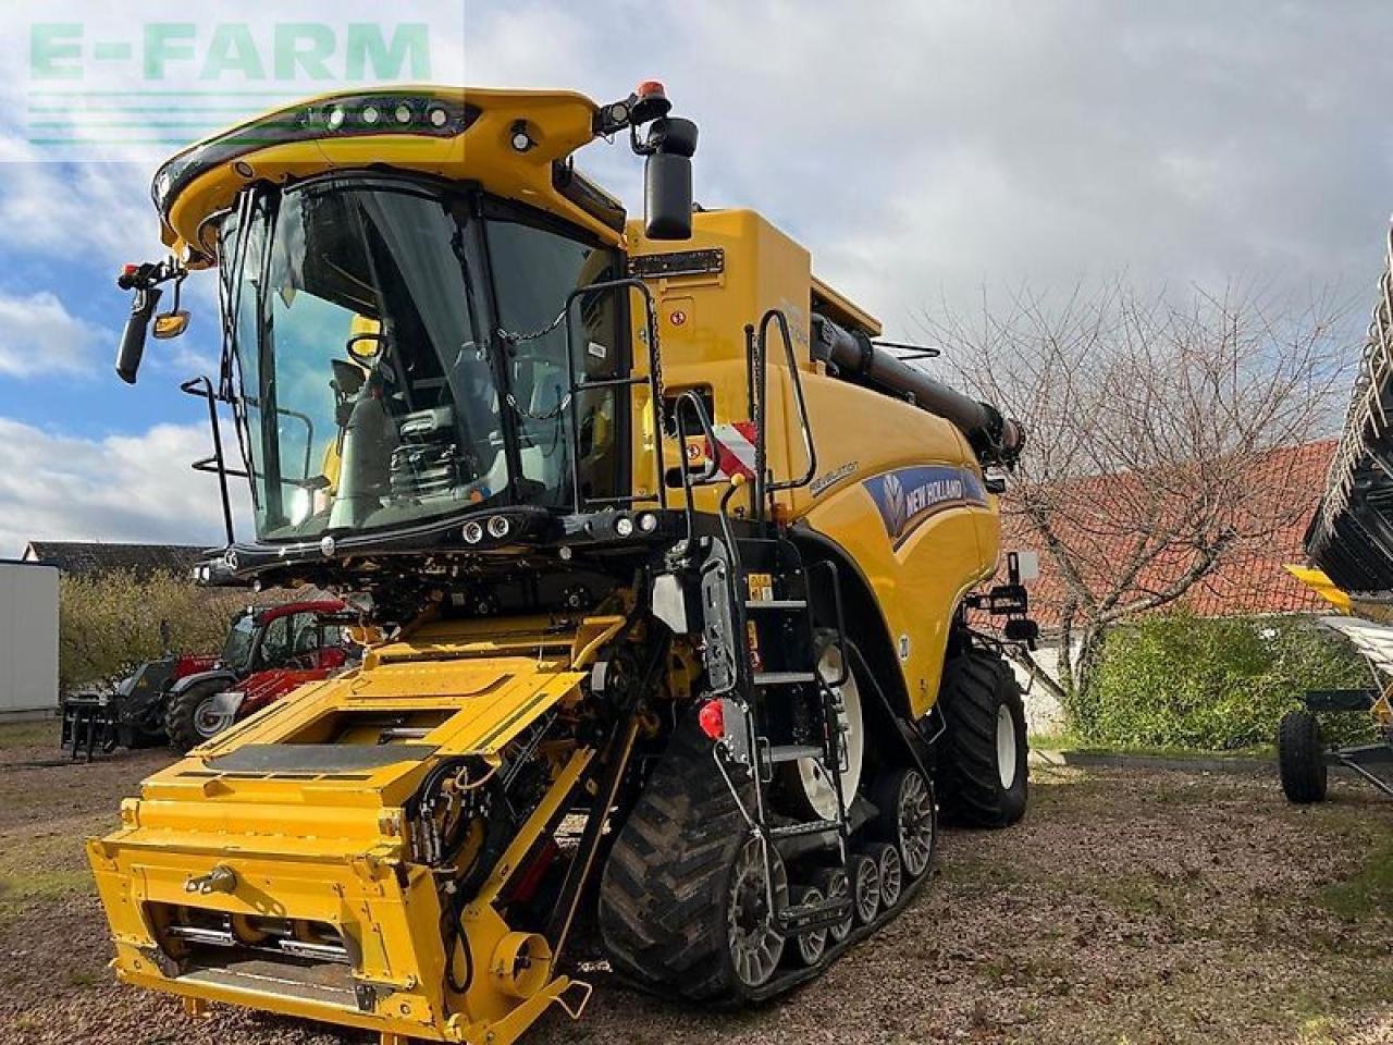
[[[691,1000],[738,1005],[773,978],[784,939],[756,903],[747,850],[759,842],[710,747],[694,716],[673,733],[605,862],[599,928],[617,971]],[[748,790],[744,777],[737,786]],[[777,854],[773,865],[775,890],[787,890]],[[741,952],[749,946],[772,964],[752,961]]]

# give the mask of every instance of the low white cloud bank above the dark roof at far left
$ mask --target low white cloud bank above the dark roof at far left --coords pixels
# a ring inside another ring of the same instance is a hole
[[[38,539],[223,543],[217,481],[188,467],[209,444],[206,425],[78,439],[0,418],[0,556]],[[230,485],[249,518],[245,481]]]

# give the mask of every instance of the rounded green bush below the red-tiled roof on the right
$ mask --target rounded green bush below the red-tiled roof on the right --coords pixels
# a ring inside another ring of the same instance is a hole
[[[1354,647],[1312,620],[1169,613],[1107,637],[1071,725],[1091,744],[1229,751],[1275,743],[1307,690],[1368,686]],[[1325,718],[1340,741],[1369,732],[1367,716]]]

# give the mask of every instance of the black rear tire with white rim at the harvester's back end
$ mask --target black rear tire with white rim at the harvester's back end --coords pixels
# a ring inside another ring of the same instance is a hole
[[[1025,704],[1010,665],[967,649],[943,669],[947,732],[939,764],[943,818],[970,828],[1009,828],[1029,796]]]

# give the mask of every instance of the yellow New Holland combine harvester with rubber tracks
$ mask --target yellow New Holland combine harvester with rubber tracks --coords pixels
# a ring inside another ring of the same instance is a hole
[[[614,135],[642,222],[573,163]],[[657,84],[400,88],[159,171],[173,255],[121,277],[117,371],[216,266],[198,467],[224,507],[249,477],[256,534],[227,511],[201,580],[330,588],[369,649],[91,843],[124,981],[501,1045],[578,1014],[584,938],[652,989],[756,1000],[896,914],[939,801],[1022,815],[1021,695],[967,623],[1034,635],[1018,578],[974,591],[1021,432],[769,222],[694,208],[695,145]]]

